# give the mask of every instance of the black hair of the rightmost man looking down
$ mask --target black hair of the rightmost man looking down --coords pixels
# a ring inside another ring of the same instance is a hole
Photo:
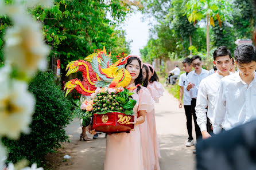
[[[242,44],[236,46],[234,51],[235,61],[239,64],[248,64],[251,61],[256,62],[256,50],[253,45]]]

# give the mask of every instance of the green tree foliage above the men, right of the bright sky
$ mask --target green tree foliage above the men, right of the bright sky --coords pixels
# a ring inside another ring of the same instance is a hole
[[[251,0],[145,0],[142,4],[145,13],[157,20],[154,29],[150,31],[152,38],[141,49],[141,55],[147,61],[153,61],[154,58],[183,58],[189,55],[189,50],[192,50],[192,54],[206,57],[208,49],[211,56],[213,50],[222,45],[226,45],[232,52],[235,40],[251,38],[256,25]],[[205,41],[207,15],[211,42],[208,48]],[[190,35],[192,46],[189,44]]]

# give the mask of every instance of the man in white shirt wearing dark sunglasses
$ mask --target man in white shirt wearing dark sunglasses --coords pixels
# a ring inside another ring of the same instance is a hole
[[[208,70],[205,70],[202,68],[202,62],[200,56],[193,56],[191,58],[192,60],[192,66],[194,70],[190,73],[188,73],[188,85],[185,87],[187,91],[189,91],[189,95],[192,98],[191,99],[191,110],[193,115],[193,120],[195,124],[195,130],[196,130],[196,139],[201,139],[201,131],[199,126],[196,123],[196,98],[197,98],[197,92],[199,88],[199,84],[201,80],[203,80],[205,77],[208,76]]]

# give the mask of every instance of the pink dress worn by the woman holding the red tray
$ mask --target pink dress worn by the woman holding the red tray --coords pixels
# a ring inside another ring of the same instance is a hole
[[[135,84],[131,84],[128,87],[131,86],[135,86]],[[154,109],[154,101],[147,88],[141,86],[138,93],[137,89],[134,89],[132,97],[137,101],[133,109],[136,117],[139,110],[151,112]],[[104,170],[145,170],[143,167],[139,126],[135,126],[134,129],[135,131],[131,131],[130,133],[107,135]]]

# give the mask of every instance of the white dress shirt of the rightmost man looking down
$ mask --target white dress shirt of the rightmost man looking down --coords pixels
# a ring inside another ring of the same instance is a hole
[[[245,124],[256,117],[256,74],[248,86],[238,73],[222,78],[214,110],[214,133]]]

